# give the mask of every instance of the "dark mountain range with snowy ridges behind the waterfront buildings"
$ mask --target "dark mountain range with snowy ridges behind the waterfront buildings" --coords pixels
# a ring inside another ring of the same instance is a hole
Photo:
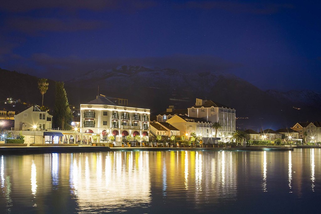
[[[6,84],[0,86],[1,100],[10,95],[36,103],[41,101],[37,77],[0,71],[6,80]],[[54,103],[53,85],[54,81],[49,80],[44,101],[48,106]],[[237,120],[238,126],[254,130],[277,129],[298,121],[321,119],[320,93],[310,90],[264,91],[233,74],[216,71],[184,73],[170,68],[122,65],[79,75],[65,81],[65,89],[69,102],[75,106],[95,99],[99,93],[128,99],[129,106],[150,108],[154,114],[169,105],[190,107],[195,104],[195,98],[211,99],[236,109],[237,117],[241,117]]]

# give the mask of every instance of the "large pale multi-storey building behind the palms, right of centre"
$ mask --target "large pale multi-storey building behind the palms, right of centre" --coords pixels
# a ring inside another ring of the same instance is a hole
[[[214,103],[212,100],[196,98],[195,106],[187,108],[189,117],[202,118],[208,123],[219,122],[222,130],[218,136],[228,136],[235,131],[235,109]]]

